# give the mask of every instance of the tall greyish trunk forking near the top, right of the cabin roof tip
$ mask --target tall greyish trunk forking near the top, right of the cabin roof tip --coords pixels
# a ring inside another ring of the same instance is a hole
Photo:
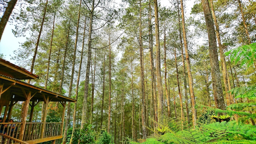
[[[86,123],[89,74],[90,74],[90,65],[91,65],[91,57],[92,57],[92,23],[93,23],[93,12],[94,12],[94,0],[92,0],[92,9],[90,10],[90,12],[91,14],[90,14],[90,25],[89,25],[89,34],[88,34],[89,35],[88,56],[87,56],[86,75],[85,75],[85,82],[84,82],[84,97],[83,97],[81,129],[83,129],[83,126]]]

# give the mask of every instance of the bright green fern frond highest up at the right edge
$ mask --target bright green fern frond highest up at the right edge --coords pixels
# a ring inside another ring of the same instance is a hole
[[[249,67],[256,60],[256,43],[241,46],[225,53],[226,56],[230,55],[230,61],[240,65],[247,65]]]

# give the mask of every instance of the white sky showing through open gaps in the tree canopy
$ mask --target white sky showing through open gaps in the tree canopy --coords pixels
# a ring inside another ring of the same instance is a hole
[[[118,0],[116,0],[118,1]],[[194,5],[195,0],[185,0],[183,3],[186,5],[186,15],[190,14],[191,8]],[[169,0],[160,0],[162,6],[169,6]],[[7,23],[2,39],[0,41],[0,53],[4,54],[5,60],[10,61],[12,63],[16,63],[15,60],[11,60],[12,57],[15,56],[14,50],[17,50],[20,47],[20,43],[25,42],[26,37],[18,37],[16,38],[13,33],[12,29],[14,29],[14,25],[10,25]],[[29,35],[27,35],[29,37]]]

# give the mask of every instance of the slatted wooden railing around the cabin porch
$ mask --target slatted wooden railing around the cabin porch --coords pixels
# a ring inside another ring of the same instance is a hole
[[[22,123],[0,123],[0,132],[2,133],[2,135],[6,135],[14,139],[20,139],[21,125]],[[23,141],[39,139],[42,135],[42,128],[43,123],[26,123]],[[45,123],[45,131],[43,138],[60,136],[61,131],[62,123]]]

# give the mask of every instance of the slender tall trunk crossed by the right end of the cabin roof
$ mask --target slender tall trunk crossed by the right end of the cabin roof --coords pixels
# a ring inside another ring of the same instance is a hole
[[[77,51],[77,41],[78,41],[78,30],[79,30],[79,21],[80,21],[81,2],[82,2],[82,0],[80,0],[79,11],[78,11],[76,39],[75,39],[75,45],[74,45],[74,54],[73,54],[72,71],[71,71],[71,78],[70,78],[70,84],[69,84],[68,97],[71,97],[72,89],[73,89],[72,86],[73,86],[73,78],[74,78],[74,71],[75,71],[75,64],[76,64],[76,51]],[[65,130],[64,130],[62,144],[66,144],[67,131],[68,131],[68,123],[67,123],[67,121],[70,120],[70,113],[71,113],[70,102],[68,102],[67,117],[66,117]]]

